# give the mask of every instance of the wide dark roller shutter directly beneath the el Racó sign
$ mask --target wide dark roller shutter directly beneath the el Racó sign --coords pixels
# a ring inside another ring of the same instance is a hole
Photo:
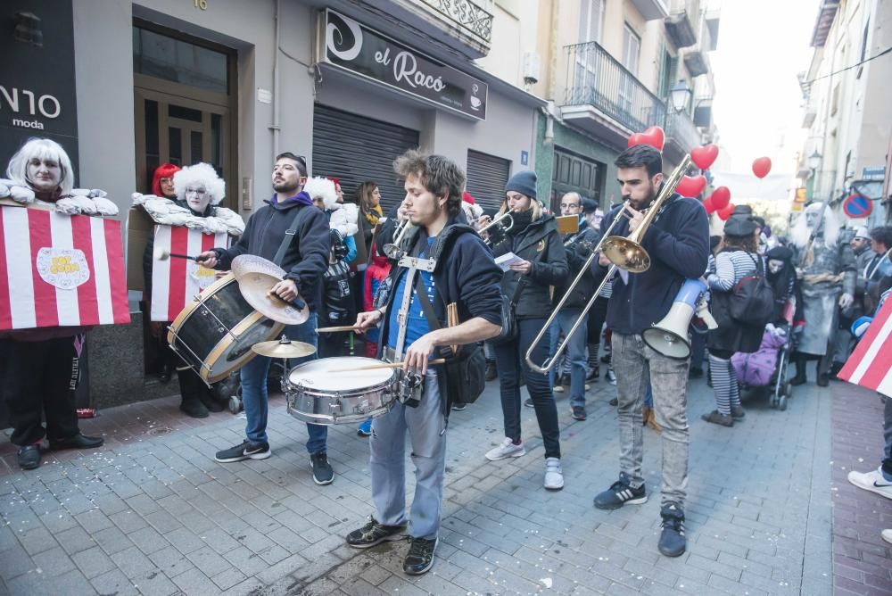
[[[366,180],[376,182],[385,215],[406,195],[393,160],[417,146],[417,130],[318,103],[313,109],[312,175],[339,178],[346,201]]]

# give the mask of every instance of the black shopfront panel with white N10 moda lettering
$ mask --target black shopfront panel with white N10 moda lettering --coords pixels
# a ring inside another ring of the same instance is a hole
[[[71,0],[32,0],[27,10],[4,4],[0,20],[16,23],[42,46],[0,36],[0,171],[29,137],[51,138],[65,148],[78,172],[78,103],[74,80]],[[42,36],[38,36],[42,34]],[[94,90],[96,94],[101,91]]]

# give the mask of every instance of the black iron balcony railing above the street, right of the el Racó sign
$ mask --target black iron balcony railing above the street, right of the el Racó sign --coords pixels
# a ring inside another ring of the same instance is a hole
[[[597,42],[566,52],[565,105],[591,104],[632,132],[663,126],[665,103]]]

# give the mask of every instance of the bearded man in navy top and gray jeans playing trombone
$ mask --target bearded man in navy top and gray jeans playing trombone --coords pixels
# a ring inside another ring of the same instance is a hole
[[[663,158],[657,149],[635,145],[616,158],[616,180],[623,194],[601,222],[601,236],[610,223],[623,217],[613,231],[628,236],[639,228],[644,210],[663,184]],[[644,445],[641,407],[653,387],[657,423],[663,427],[663,486],[660,516],[663,531],[658,549],[666,557],[680,556],[687,545],[684,535],[684,500],[688,487],[689,429],[686,385],[690,359],[678,360],[651,349],[641,333],[663,319],[685,279],[706,270],[709,255],[709,223],[696,200],[672,195],[663,203],[641,239],[650,255],[650,268],[642,273],[614,278],[607,303],[607,326],[613,330],[613,367],[618,401],[620,474],[610,488],[595,497],[598,509],[619,509],[648,500],[641,471]],[[606,266],[602,255],[600,264]],[[599,277],[603,277],[603,273]]]

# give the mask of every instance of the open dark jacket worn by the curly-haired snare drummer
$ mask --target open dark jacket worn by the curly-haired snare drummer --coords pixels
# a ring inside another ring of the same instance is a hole
[[[456,218],[450,218],[447,227],[457,223]],[[501,269],[492,261],[492,253],[483,239],[471,228],[463,226],[463,233],[455,236],[453,242],[447,245],[437,260],[434,269],[434,313],[441,327],[446,327],[446,305],[456,302],[458,305],[458,320],[461,322],[480,317],[494,325],[501,325],[501,295],[499,280]],[[441,236],[448,228],[444,228]],[[409,254],[412,254],[415,244],[424,236],[413,236],[409,245]],[[425,236],[426,242],[426,236]],[[387,314],[384,315],[384,323],[381,327],[381,341],[378,346],[378,357],[384,352],[390,326],[390,312],[393,308],[393,300],[396,298],[396,288],[400,284],[400,277],[409,269],[403,269],[394,265],[390,277],[392,288],[387,298]],[[449,418],[452,407],[452,396],[446,391],[446,376],[442,366],[437,366],[437,381],[441,395],[445,395],[443,402],[443,418]]]

